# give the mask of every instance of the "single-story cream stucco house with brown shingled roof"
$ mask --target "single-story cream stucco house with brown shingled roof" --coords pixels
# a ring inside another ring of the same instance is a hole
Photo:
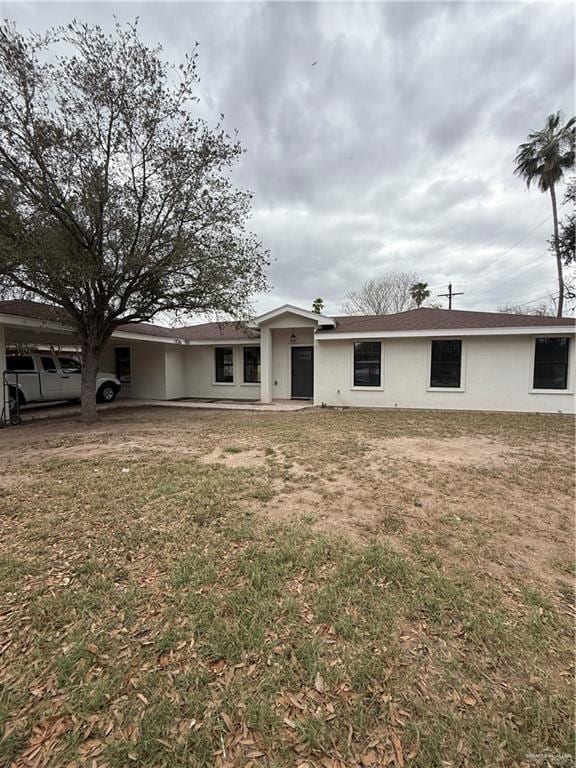
[[[574,413],[575,333],[573,318],[427,308],[329,317],[284,305],[248,323],[121,326],[100,368],[131,398]],[[0,371],[10,344],[74,340],[61,310],[0,302]]]

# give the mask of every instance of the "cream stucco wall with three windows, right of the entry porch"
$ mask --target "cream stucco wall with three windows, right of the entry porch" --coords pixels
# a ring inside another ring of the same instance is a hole
[[[530,392],[533,344],[531,336],[464,338],[463,391],[439,391],[428,389],[430,339],[383,339],[382,389],[355,390],[352,387],[353,342],[317,341],[315,403],[574,413],[574,339],[570,352],[569,393]]]

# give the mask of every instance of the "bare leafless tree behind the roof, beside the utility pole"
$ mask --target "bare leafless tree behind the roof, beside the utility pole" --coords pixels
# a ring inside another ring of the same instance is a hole
[[[341,310],[347,315],[390,315],[413,309],[412,286],[420,282],[414,272],[387,272],[347,293]]]

